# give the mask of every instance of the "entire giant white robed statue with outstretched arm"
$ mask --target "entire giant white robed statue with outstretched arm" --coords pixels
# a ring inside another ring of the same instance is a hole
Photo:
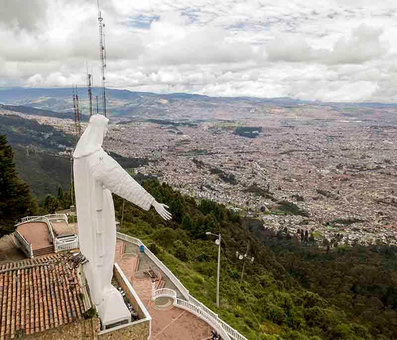
[[[103,149],[108,119],[91,116],[73,153],[74,190],[80,251],[87,258],[84,273],[91,297],[104,325],[129,318],[131,313],[120,292],[112,286],[116,247],[116,222],[112,192],[165,220],[171,214],[144,190]]]

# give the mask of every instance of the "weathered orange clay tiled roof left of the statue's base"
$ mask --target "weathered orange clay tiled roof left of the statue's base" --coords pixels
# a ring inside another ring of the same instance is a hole
[[[77,258],[49,255],[0,266],[0,340],[82,318]]]

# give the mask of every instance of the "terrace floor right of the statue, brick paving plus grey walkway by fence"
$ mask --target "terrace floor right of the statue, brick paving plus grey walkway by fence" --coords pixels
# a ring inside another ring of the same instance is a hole
[[[211,328],[197,316],[172,305],[170,299],[160,298],[155,302],[150,300],[151,281],[143,274],[150,268],[158,274],[160,280],[156,286],[164,285],[174,289],[175,285],[167,276],[147,257],[139,253],[138,246],[117,240],[115,262],[130,280],[132,287],[138,294],[152,317],[152,340],[206,340],[210,339]],[[135,271],[136,269],[136,271]],[[180,292],[178,295],[182,296]]]

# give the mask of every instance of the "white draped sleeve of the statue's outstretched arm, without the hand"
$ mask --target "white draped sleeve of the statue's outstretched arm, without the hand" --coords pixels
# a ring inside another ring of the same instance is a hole
[[[105,151],[99,151],[96,156],[97,161],[93,167],[95,180],[102,183],[103,187],[109,189],[112,193],[140,206],[144,210],[149,210],[154,202],[153,196],[143,189]]]

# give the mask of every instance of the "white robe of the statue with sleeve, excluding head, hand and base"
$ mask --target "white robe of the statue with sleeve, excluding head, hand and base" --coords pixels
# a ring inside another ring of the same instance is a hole
[[[83,142],[80,138],[80,142]],[[112,289],[116,222],[112,192],[148,210],[154,198],[100,147],[74,155],[74,190],[84,273],[99,306]]]

